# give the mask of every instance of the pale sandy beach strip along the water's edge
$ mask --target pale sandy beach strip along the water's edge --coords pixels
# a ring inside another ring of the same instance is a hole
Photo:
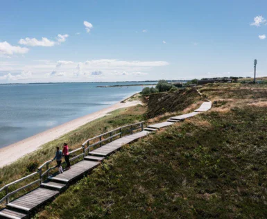
[[[36,134],[33,137],[29,137],[22,141],[18,141],[17,143],[13,143],[5,148],[1,148],[0,167],[11,164],[20,157],[23,157],[24,155],[27,155],[28,153],[37,150],[37,148],[42,146],[44,143],[58,139],[62,135],[67,134],[68,132],[71,132],[73,130],[76,130],[80,126],[85,125],[90,121],[94,121],[95,119],[101,118],[106,114],[114,111],[115,109],[131,107],[138,104],[140,104],[139,101],[126,101],[126,103],[119,102],[105,109],[101,109],[98,112],[88,114],[78,119],[74,119],[62,125],[58,125],[55,128],[46,130],[45,132]]]

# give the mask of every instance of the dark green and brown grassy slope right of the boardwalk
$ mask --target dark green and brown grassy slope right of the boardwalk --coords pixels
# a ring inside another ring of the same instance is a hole
[[[267,87],[246,86],[203,87],[210,112],[124,146],[37,217],[266,218]]]

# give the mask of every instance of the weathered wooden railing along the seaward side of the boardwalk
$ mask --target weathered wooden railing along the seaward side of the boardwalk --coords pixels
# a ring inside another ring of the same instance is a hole
[[[92,139],[87,139],[83,145],[80,147],[80,148],[77,148],[75,150],[71,150],[69,152],[69,154],[74,154],[80,150],[83,150],[82,153],[80,153],[80,155],[76,155],[75,157],[72,157],[71,159],[69,159],[69,161],[74,161],[80,157],[85,157],[86,153],[88,154],[89,152],[89,149],[90,148],[93,148],[94,146],[102,146],[103,143],[107,143],[107,141],[113,141],[114,138],[116,137],[123,137],[123,136],[126,136],[126,135],[130,135],[130,134],[133,134],[133,132],[135,130],[139,130],[141,129],[140,131],[143,131],[144,130],[144,122],[140,122],[140,123],[135,123],[135,124],[131,124],[131,125],[126,125],[126,126],[123,126],[121,128],[117,128],[117,129],[114,129],[110,132],[105,132],[104,134],[101,134],[101,135],[98,135]],[[108,137],[107,137],[108,136]],[[98,139],[98,141],[96,141],[96,139]],[[96,141],[94,143],[92,143],[91,145],[89,144],[90,142],[92,141]],[[85,146],[87,145],[87,148],[85,148]],[[75,155],[75,154],[74,154]],[[5,186],[3,186],[1,189],[0,189],[0,193],[1,191],[5,191],[6,192],[6,195],[1,198],[0,200],[0,204],[6,200],[6,204],[8,204],[10,202],[10,196],[11,195],[15,195],[15,193],[21,191],[22,189],[26,189],[28,188],[29,186],[33,186],[34,184],[41,184],[44,177],[49,177],[50,175],[50,172],[51,170],[55,169],[57,166],[51,166],[50,167],[50,164],[52,163],[52,160],[49,160],[49,161],[45,161],[44,164],[42,164],[41,166],[39,166],[37,168],[37,171],[34,172],[34,173],[31,173],[30,175],[27,175],[26,177],[22,177],[21,179],[17,179],[16,181],[14,182],[10,182],[9,184],[6,184]],[[62,162],[62,164],[65,164],[66,162]],[[45,168],[45,170],[44,170]],[[26,184],[25,186],[21,186],[19,189],[16,189],[15,191],[9,191],[9,188],[10,186],[14,185],[14,184],[17,184],[19,182],[22,182],[24,181],[25,179],[28,179],[30,177],[33,177],[35,175],[39,175],[39,179],[29,183],[29,184]]]

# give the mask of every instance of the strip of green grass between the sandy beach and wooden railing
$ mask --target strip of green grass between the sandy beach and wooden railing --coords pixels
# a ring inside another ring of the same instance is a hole
[[[79,148],[86,139],[123,125],[143,121],[145,112],[146,107],[142,105],[117,109],[108,116],[104,116],[101,119],[96,119],[95,121],[87,123],[77,130],[69,132],[59,139],[56,139],[55,141],[45,143],[42,147],[40,147],[40,149],[30,155],[26,155],[14,163],[0,168],[0,187],[35,172],[37,170],[37,166],[54,157],[55,148],[57,146],[62,148],[62,144],[64,142],[69,143],[70,149],[74,150],[75,148]],[[38,176],[33,179],[37,179],[37,177]],[[33,179],[11,186],[10,191],[14,191],[20,186],[25,185],[27,182],[33,182]],[[17,195],[21,195],[32,188],[33,187],[26,189],[25,191],[21,191],[21,193],[18,193]],[[3,196],[4,191],[0,193],[0,198]],[[13,198],[15,197],[16,196],[14,195]]]

